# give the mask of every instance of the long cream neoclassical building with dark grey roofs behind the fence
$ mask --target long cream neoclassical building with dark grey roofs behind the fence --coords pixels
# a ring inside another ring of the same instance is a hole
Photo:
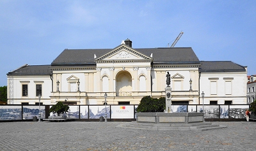
[[[246,67],[200,61],[191,47],[65,49],[51,65],[24,65],[7,74],[8,104],[140,104],[165,97],[171,74],[173,104],[246,104]]]

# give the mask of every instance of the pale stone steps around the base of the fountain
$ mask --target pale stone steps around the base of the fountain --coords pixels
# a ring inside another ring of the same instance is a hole
[[[154,131],[209,131],[214,129],[227,128],[224,125],[212,124],[211,122],[197,123],[142,123],[127,122],[118,125],[119,128],[127,129],[146,129]]]

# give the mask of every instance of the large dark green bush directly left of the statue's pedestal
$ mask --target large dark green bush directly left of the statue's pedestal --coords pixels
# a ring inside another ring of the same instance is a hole
[[[163,112],[164,109],[165,97],[156,99],[146,96],[141,99],[140,105],[137,107],[137,112]]]

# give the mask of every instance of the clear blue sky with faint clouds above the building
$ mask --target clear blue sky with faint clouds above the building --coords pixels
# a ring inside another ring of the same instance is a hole
[[[22,65],[50,65],[64,49],[192,47],[201,61],[256,74],[256,1],[0,0],[0,86]]]

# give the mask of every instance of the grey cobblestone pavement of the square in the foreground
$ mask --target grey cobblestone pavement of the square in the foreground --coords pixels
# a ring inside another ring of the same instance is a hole
[[[124,122],[3,122],[0,150],[256,150],[256,122],[211,131],[120,129]]]

